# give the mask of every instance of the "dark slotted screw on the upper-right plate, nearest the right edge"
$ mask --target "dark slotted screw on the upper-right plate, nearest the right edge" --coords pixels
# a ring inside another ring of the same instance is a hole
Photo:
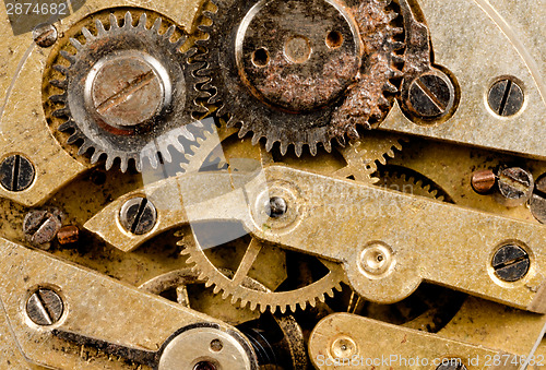
[[[497,115],[513,116],[523,108],[523,89],[511,79],[500,80],[489,89],[488,102],[489,107]]]

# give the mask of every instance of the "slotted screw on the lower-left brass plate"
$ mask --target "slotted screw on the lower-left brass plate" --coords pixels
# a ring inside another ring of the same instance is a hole
[[[64,310],[61,297],[51,289],[39,288],[26,301],[26,314],[37,325],[57,323]]]

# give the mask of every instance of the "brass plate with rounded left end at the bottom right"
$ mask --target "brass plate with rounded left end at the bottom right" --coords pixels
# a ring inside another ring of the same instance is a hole
[[[471,361],[495,355],[515,356],[348,313],[328,315],[309,339],[309,357],[317,369],[435,369],[442,360],[450,363],[456,359],[472,369]],[[490,368],[515,370],[519,366]]]

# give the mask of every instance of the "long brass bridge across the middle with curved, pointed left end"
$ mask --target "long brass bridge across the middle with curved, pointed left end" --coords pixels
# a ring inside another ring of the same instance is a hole
[[[301,198],[298,198],[299,201],[287,202],[288,210],[292,208],[292,204],[298,204],[298,214],[295,216],[295,220],[292,220],[290,216],[286,216],[288,218],[278,218],[278,223],[273,222],[274,219],[262,223],[256,218],[259,211],[253,210],[254,200],[251,199],[247,203],[241,190],[233,190],[232,192],[223,190],[221,193],[216,193],[218,199],[203,200],[203,203],[200,203],[199,206],[195,205],[195,208],[187,207],[178,212],[173,212],[171,208],[165,212],[158,210],[162,222],[158,222],[155,230],[158,232],[175,225],[200,219],[211,220],[218,217],[225,219],[226,212],[221,210],[229,208],[229,218],[241,220],[251,230],[251,234],[260,239],[343,262],[353,288],[373,301],[393,302],[403,299],[423,279],[426,279],[502,301],[509,306],[536,312],[546,310],[541,298],[543,290],[539,289],[544,283],[539,270],[544,258],[542,240],[545,238],[545,230],[537,225],[491,216],[412,195],[396,194],[370,186],[333,180],[286,167],[270,167],[266,169],[266,174],[270,183],[286,181],[292,187],[297,187],[300,192],[298,196]],[[210,177],[202,177],[202,181],[219,183],[222,177],[225,177],[225,175],[219,174],[213,180],[214,176],[207,176]],[[165,200],[171,198],[173,192],[190,194],[191,190],[183,190],[183,188],[200,188],[193,181],[201,180],[198,177],[191,181],[185,177],[168,180],[157,184],[154,190],[150,189],[149,195]],[[257,186],[258,188],[253,188]],[[254,181],[246,188],[248,192],[254,192],[254,196],[258,199],[262,191],[260,187],[263,187],[263,183]],[[270,188],[270,191],[274,187]],[[343,198],[340,199],[339,194],[343,194]],[[302,199],[310,201],[309,203],[299,203]],[[355,203],[355,200],[366,200],[366,202]],[[119,228],[111,225],[111,219],[116,217],[116,208],[120,202],[123,200],[112,203],[102,214],[90,220],[85,227],[114,246],[131,250],[139,246],[140,240],[128,238]],[[258,201],[256,204],[261,206],[262,203]],[[197,207],[200,211],[197,211]],[[438,228],[432,223],[422,223],[418,217],[410,216],[416,214],[417,210],[435,214],[447,225],[456,225],[456,227]],[[323,220],[332,214],[335,217],[328,217],[328,227],[323,227]],[[289,223],[287,223],[288,220]],[[365,236],[355,234],[348,231],[351,230],[347,228],[349,226],[358,229],[366,227],[368,231]],[[483,232],[475,234],[475,227],[479,227]],[[290,232],[286,232],[287,228]],[[403,231],[385,231],[393,228]],[[340,235],[339,230],[347,231]],[[414,235],[414,239],[412,239],[414,241],[411,243],[407,242],[405,234],[408,230],[412,230]],[[449,239],[450,242],[438,243],[435,241],[444,239]],[[497,284],[495,278],[491,279],[494,277],[491,276],[494,274],[492,267],[487,268],[490,266],[490,255],[492,251],[497,250],[499,243],[514,239],[532,250],[536,259],[536,270],[518,285]],[[390,246],[396,255],[390,273],[381,276],[379,281],[364,275],[357,263],[357,255],[370,243],[377,241]],[[475,249],[471,246],[483,247]],[[199,253],[194,254],[194,256],[199,255]],[[418,255],[427,255],[427,258],[422,259]],[[435,255],[437,256],[435,258]],[[435,264],[435,261],[446,258],[449,258],[449,264],[438,266]],[[206,262],[206,259],[202,261]],[[206,264],[200,263],[200,265]],[[435,265],[434,268],[432,265]],[[473,268],[474,274],[472,277],[461,275],[460,268]],[[228,282],[228,284],[230,283]]]

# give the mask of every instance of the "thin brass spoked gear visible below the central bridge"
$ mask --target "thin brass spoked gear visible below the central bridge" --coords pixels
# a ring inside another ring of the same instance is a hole
[[[274,313],[280,310],[284,313],[288,309],[294,312],[297,307],[314,307],[317,301],[323,302],[327,296],[333,297],[334,290],[341,290],[340,283],[345,278],[341,264],[321,261],[329,272],[316,282],[292,290],[268,291],[259,285],[249,284],[246,275],[261,248],[268,248],[260,241],[251,240],[234,276],[216,267],[197,243],[181,241],[180,244],[186,247],[181,253],[188,255],[187,263],[199,275],[199,279],[205,282],[206,287],[214,286],[214,294],[222,293],[224,299],[232,297],[233,305],[248,305],[251,310],[259,309],[261,312]]]

